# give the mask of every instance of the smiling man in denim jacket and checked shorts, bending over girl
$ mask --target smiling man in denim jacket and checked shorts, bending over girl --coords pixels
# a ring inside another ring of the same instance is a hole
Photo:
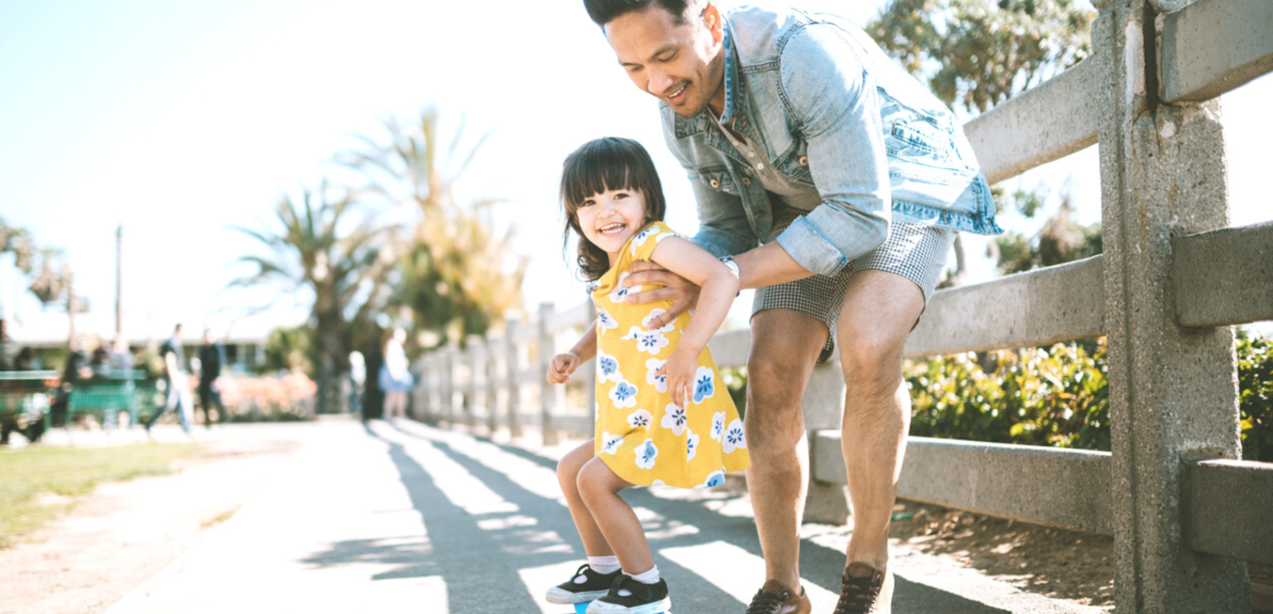
[[[658,98],[689,173],[694,242],[759,289],[747,358],[749,489],[766,578],[749,613],[808,613],[801,397],[839,346],[854,530],[836,613],[887,613],[889,520],[910,398],[901,351],[955,231],[995,234],[994,203],[951,113],[858,28],[831,15],[708,0],[584,0],[633,83]],[[648,263],[633,303],[698,289]]]

